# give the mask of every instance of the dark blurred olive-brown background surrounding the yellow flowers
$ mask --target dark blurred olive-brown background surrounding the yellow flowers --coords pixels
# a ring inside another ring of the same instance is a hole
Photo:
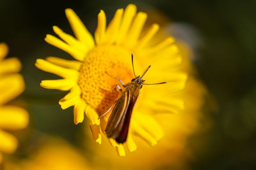
[[[55,76],[36,69],[36,58],[69,57],[45,43],[45,35],[53,34],[52,25],[71,33],[64,10],[72,8],[94,32],[99,10],[106,12],[109,21],[117,8],[129,3],[139,11],[161,13],[159,20],[161,16],[170,20],[173,36],[193,48],[193,64],[211,96],[204,112],[211,121],[189,137],[193,159],[186,162],[187,167],[256,169],[256,1],[0,0],[0,41],[10,47],[8,56],[21,60],[27,87],[13,103],[31,116],[29,128],[17,132],[20,147],[15,157],[26,157],[45,136],[81,145],[83,125],[74,125],[72,108],[63,111],[56,104],[66,92],[39,86],[42,79]]]

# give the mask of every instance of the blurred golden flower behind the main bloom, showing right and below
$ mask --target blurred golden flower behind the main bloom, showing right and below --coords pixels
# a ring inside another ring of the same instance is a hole
[[[150,11],[148,15],[151,19],[155,18],[155,20],[149,21],[149,24],[156,22],[156,20],[157,22],[160,21],[161,29],[157,32],[157,36],[152,39],[152,43],[154,43],[168,34],[165,25],[169,25],[170,20],[163,19],[166,16],[159,11],[154,11],[154,13]],[[140,138],[134,138],[140,149],[135,153],[127,154],[126,157],[116,156],[111,147],[105,143],[102,143],[99,148],[95,143],[82,141],[86,150],[90,149],[95,152],[90,155],[92,164],[105,169],[189,169],[188,162],[195,160],[193,152],[191,152],[192,148],[189,146],[189,137],[200,129],[207,129],[205,124],[207,126],[211,124],[203,114],[205,98],[207,99],[209,94],[204,83],[198,79],[196,69],[190,62],[190,59],[194,57],[191,47],[179,39],[176,43],[180,55],[184,56],[180,69],[189,73],[189,77],[185,89],[172,95],[184,101],[184,110],[179,110],[176,114],[152,115],[161,124],[165,134],[164,138],[154,148],[144,145]],[[88,134],[87,131],[86,129],[86,134]]]

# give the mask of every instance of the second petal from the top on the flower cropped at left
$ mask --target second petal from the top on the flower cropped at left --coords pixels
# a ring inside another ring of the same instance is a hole
[[[17,58],[9,58],[0,62],[0,74],[19,72],[21,64]]]

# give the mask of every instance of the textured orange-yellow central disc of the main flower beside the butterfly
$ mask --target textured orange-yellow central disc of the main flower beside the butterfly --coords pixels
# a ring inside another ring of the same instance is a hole
[[[81,97],[94,108],[99,116],[105,113],[120,95],[119,90],[112,87],[124,84],[133,78],[131,69],[131,52],[120,46],[96,46],[86,55],[80,68],[78,84]]]

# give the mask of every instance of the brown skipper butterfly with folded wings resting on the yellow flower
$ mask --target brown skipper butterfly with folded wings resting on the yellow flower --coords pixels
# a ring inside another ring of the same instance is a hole
[[[122,86],[124,87],[124,90],[122,90],[118,85],[115,85],[110,91],[117,88],[122,92],[121,97],[111,106],[111,108],[114,106],[113,111],[108,119],[108,124],[106,125],[105,133],[108,138],[113,138],[117,143],[125,143],[129,131],[129,124],[131,120],[132,110],[135,106],[135,103],[138,99],[138,96],[140,94],[140,89],[142,88],[142,85],[157,85],[157,84],[164,84],[166,82],[161,83],[152,83],[152,84],[146,84],[143,83],[145,80],[143,80],[143,76],[145,73],[147,73],[150,66],[147,67],[147,69],[144,71],[142,76],[136,76],[133,66],[133,55],[132,55],[132,69],[134,73],[134,77],[131,80],[131,83],[128,83],[127,85],[124,85],[122,80],[119,78],[115,78],[116,80],[120,81]],[[111,108],[106,112],[108,113]],[[106,115],[104,113],[101,117]],[[100,117],[100,118],[101,118]]]

